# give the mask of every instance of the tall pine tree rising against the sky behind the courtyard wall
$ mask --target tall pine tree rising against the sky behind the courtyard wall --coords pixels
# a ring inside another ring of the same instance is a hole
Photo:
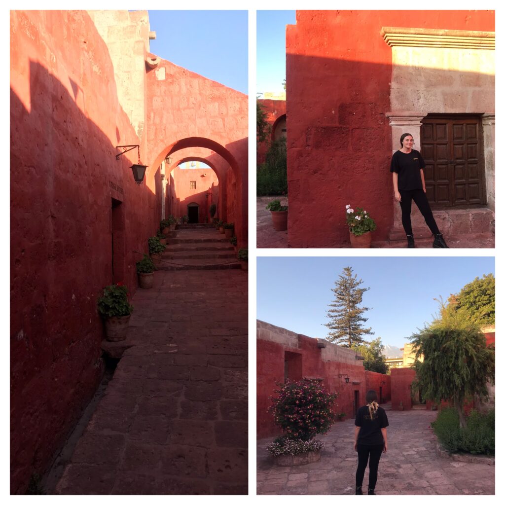
[[[352,347],[366,343],[363,335],[373,335],[372,328],[363,328],[363,323],[368,318],[363,314],[369,310],[368,307],[360,307],[363,301],[363,293],[370,288],[360,288],[363,281],[357,280],[356,275],[352,275],[352,268],[345,267],[339,280],[335,281],[332,291],[335,293],[333,303],[328,307],[327,317],[330,322],[326,323],[331,331],[328,333],[328,340],[335,342],[342,347]]]

